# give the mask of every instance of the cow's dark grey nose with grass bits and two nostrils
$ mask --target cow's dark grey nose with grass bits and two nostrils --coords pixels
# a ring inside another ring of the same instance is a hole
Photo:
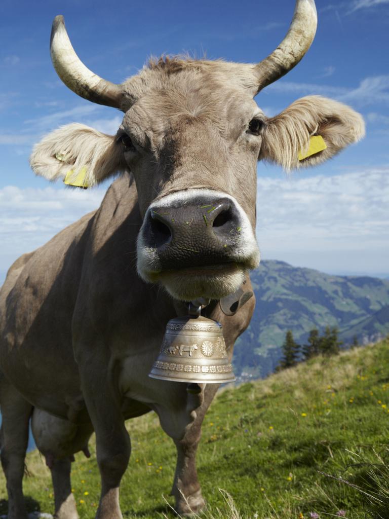
[[[157,250],[163,268],[228,262],[241,225],[239,211],[227,197],[156,204],[146,214],[143,243]]]

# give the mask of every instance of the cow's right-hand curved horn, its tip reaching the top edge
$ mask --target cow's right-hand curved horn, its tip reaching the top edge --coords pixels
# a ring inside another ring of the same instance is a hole
[[[314,0],[296,0],[293,20],[280,45],[255,66],[258,92],[293,69],[310,48],[317,28]]]

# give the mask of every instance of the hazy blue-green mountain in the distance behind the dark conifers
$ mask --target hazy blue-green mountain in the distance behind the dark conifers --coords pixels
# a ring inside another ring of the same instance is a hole
[[[287,330],[303,344],[309,331],[337,326],[344,346],[389,332],[389,280],[333,276],[275,260],[262,261],[251,273],[257,304],[234,350],[238,380],[267,376],[281,358]]]

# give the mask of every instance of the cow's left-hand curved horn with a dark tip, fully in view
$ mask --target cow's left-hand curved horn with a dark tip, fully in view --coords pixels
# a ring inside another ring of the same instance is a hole
[[[73,92],[93,103],[120,108],[120,85],[106,81],[82,63],[70,43],[61,15],[56,16],[53,21],[50,54],[57,74]]]

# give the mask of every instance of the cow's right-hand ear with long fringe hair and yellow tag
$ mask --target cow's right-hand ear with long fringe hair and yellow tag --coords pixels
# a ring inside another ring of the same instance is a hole
[[[323,139],[311,139],[317,135]],[[360,114],[337,101],[312,95],[267,120],[259,159],[276,162],[286,170],[315,166],[364,135]]]

